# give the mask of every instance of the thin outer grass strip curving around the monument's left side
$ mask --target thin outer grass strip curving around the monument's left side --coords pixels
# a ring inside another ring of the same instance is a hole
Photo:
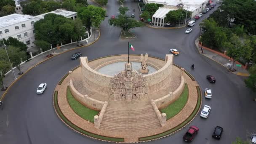
[[[54,92],[54,107],[58,113],[58,115],[61,117],[61,119],[70,127],[74,128],[76,131],[79,131],[80,133],[83,133],[87,136],[91,136],[93,138],[96,139],[102,139],[102,140],[106,140],[106,141],[116,141],[116,142],[124,142],[123,138],[111,138],[111,137],[106,137],[106,136],[100,136],[94,133],[90,133],[88,131],[85,131],[79,127],[77,127],[76,125],[74,125],[73,123],[71,123],[61,112],[61,110],[59,109],[59,105],[58,105],[58,91]]]

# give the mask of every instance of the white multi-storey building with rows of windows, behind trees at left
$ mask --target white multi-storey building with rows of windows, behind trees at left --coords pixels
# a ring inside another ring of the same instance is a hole
[[[77,18],[77,13],[72,11],[56,10],[49,13],[59,14],[71,19]],[[34,24],[36,21],[43,19],[45,14],[39,16],[29,16],[14,13],[8,16],[0,17],[0,38],[17,38],[19,41],[27,44],[29,50],[29,48],[35,46]]]

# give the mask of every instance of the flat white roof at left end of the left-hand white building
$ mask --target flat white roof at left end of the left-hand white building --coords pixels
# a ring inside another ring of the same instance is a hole
[[[11,14],[8,16],[2,16],[2,17],[0,17],[0,21],[1,21],[0,29],[3,27],[8,27],[13,24],[19,24],[23,21],[27,21],[27,20],[33,19],[33,18],[34,18],[33,16],[22,15],[22,14],[17,14],[17,13],[14,13],[14,14]]]

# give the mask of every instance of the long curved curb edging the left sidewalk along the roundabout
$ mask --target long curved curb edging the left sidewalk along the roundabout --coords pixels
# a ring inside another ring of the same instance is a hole
[[[62,54],[62,53],[66,53],[66,52],[68,52],[68,51],[72,51],[72,50],[75,50],[75,49],[78,49],[78,48],[85,48],[85,47],[88,47],[88,46],[92,45],[93,43],[96,43],[96,41],[98,41],[100,37],[101,37],[101,32],[100,32],[100,30],[99,30],[99,37],[97,37],[97,39],[96,39],[95,41],[93,41],[92,43],[90,43],[90,44],[88,44],[88,45],[85,45],[85,46],[81,46],[81,47],[71,48],[71,49],[69,49],[69,50],[67,50],[67,51],[63,51],[63,52],[58,53],[58,54],[56,54],[56,55],[53,55],[53,56],[51,56],[51,57],[49,57],[49,58],[47,58],[47,59],[45,59],[45,60],[43,60],[43,61],[40,61],[39,63],[37,63],[37,64],[35,64],[34,66],[30,67],[29,69],[27,69],[26,72],[24,72],[22,75],[20,75],[19,77],[17,77],[17,79],[14,80],[14,81],[8,86],[8,88],[5,90],[5,92],[3,93],[2,97],[0,98],[0,101],[3,101],[3,99],[5,98],[6,93],[8,93],[8,91],[10,90],[10,88],[11,88],[19,79],[21,79],[21,77],[23,77],[27,72],[29,72],[31,69],[33,69],[33,68],[36,67],[37,65],[43,63],[44,61],[47,61],[48,59],[51,59],[51,58],[53,58],[53,57],[55,57],[55,56],[58,56],[58,55],[60,55],[60,54]]]

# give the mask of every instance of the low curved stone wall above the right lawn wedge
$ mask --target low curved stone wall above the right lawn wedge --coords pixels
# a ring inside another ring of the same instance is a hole
[[[169,94],[167,94],[159,99],[154,100],[158,109],[162,109],[162,108],[168,106],[169,104],[171,104],[173,101],[176,101],[176,99],[178,99],[179,96],[181,95],[181,93],[184,89],[184,85],[185,85],[184,77],[181,76],[181,83],[180,83],[179,87],[173,93],[170,92]]]

